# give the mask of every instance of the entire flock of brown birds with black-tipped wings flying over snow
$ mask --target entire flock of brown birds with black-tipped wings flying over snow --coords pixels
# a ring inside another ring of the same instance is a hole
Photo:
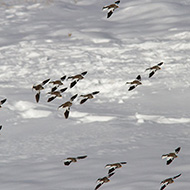
[[[116,1],[113,4],[104,6],[102,9],[107,9],[108,13],[107,13],[107,18],[111,17],[111,15],[113,14],[114,10],[119,8],[118,4],[120,3],[120,1]],[[149,78],[151,78],[156,71],[161,69],[161,66],[163,65],[163,62],[160,62],[157,65],[154,65],[152,67],[147,68],[145,71],[150,71],[149,73]],[[63,77],[61,77],[60,79],[57,80],[53,80],[51,81],[50,78],[46,79],[44,81],[42,81],[40,84],[37,85],[33,85],[32,89],[34,89],[36,91],[35,94],[35,100],[38,103],[40,101],[40,95],[41,95],[41,91],[45,89],[45,86],[49,83],[52,84],[53,86],[51,87],[50,92],[48,92],[47,94],[50,95],[50,97],[47,99],[47,102],[51,102],[53,101],[55,98],[57,97],[62,97],[62,93],[64,93],[65,91],[67,91],[69,88],[73,88],[80,80],[84,79],[84,76],[87,74],[87,71],[82,72],[80,74],[77,75],[73,75],[73,76],[69,76],[67,77],[66,75],[64,75]],[[64,81],[65,80],[71,80],[71,83],[69,84],[68,87],[64,87],[61,88],[61,86],[64,85]],[[133,81],[130,82],[126,82],[126,84],[129,84],[129,89],[128,91],[131,91],[133,89],[135,89],[137,86],[142,85],[142,79],[141,79],[141,75],[138,75]],[[94,91],[88,94],[82,94],[80,95],[81,100],[80,100],[80,104],[85,103],[87,100],[94,98],[94,95],[98,94],[99,91]],[[69,113],[70,113],[70,108],[73,105],[73,101],[78,97],[78,94],[73,95],[68,101],[64,102],[63,104],[61,104],[58,109],[60,108],[64,108],[65,112],[64,112],[64,116],[67,119],[69,117]],[[0,101],[0,108],[2,108],[2,105],[7,101],[7,99],[3,99]],[[0,130],[2,129],[2,125],[0,125]],[[175,149],[174,152],[168,153],[168,154],[163,154],[161,156],[162,159],[166,158],[166,165],[169,165],[172,163],[172,161],[178,157],[178,153],[180,151],[181,147],[178,147]],[[64,165],[65,166],[69,166],[71,163],[75,163],[78,160],[81,159],[85,159],[87,158],[87,155],[84,156],[78,156],[78,157],[68,157],[66,159],[63,160]],[[112,164],[106,164],[105,168],[108,168],[108,173],[106,176],[98,178],[97,179],[97,185],[95,186],[94,190],[97,190],[98,188],[100,188],[104,183],[108,183],[110,182],[110,178],[115,174],[115,170],[122,168],[123,165],[126,165],[127,162],[117,162],[117,163],[112,163]],[[161,187],[160,190],[163,190],[166,188],[167,185],[172,184],[174,182],[174,180],[178,177],[181,176],[181,173],[174,176],[174,177],[170,177],[167,179],[164,179],[163,181],[161,181]]]

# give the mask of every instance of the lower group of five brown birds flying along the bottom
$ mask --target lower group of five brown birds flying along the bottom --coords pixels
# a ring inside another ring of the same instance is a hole
[[[170,152],[168,154],[163,154],[161,156],[162,159],[165,159],[166,158],[166,165],[169,165],[172,163],[172,161],[178,157],[178,153],[179,151],[181,150],[181,147],[178,147],[175,149],[174,152]],[[68,157],[68,158],[65,158],[63,160],[63,163],[65,166],[69,166],[71,163],[75,163],[77,162],[78,160],[81,160],[81,159],[85,159],[87,158],[87,155],[84,155],[84,156],[77,156],[77,157]],[[123,165],[126,165],[127,162],[117,162],[117,163],[112,163],[112,164],[106,164],[105,165],[105,168],[108,168],[108,174],[104,177],[101,177],[101,178],[98,178],[96,183],[97,185],[95,186],[95,189],[98,189],[100,188],[104,183],[108,183],[110,182],[110,178],[115,174],[115,170],[116,169],[119,169],[119,168],[122,168]],[[161,187],[160,187],[160,190],[163,190],[166,188],[167,185],[169,184],[172,184],[174,183],[174,180],[178,177],[181,176],[181,173],[174,176],[174,177],[170,177],[170,178],[167,178],[167,179],[164,179],[163,181],[161,181]]]

